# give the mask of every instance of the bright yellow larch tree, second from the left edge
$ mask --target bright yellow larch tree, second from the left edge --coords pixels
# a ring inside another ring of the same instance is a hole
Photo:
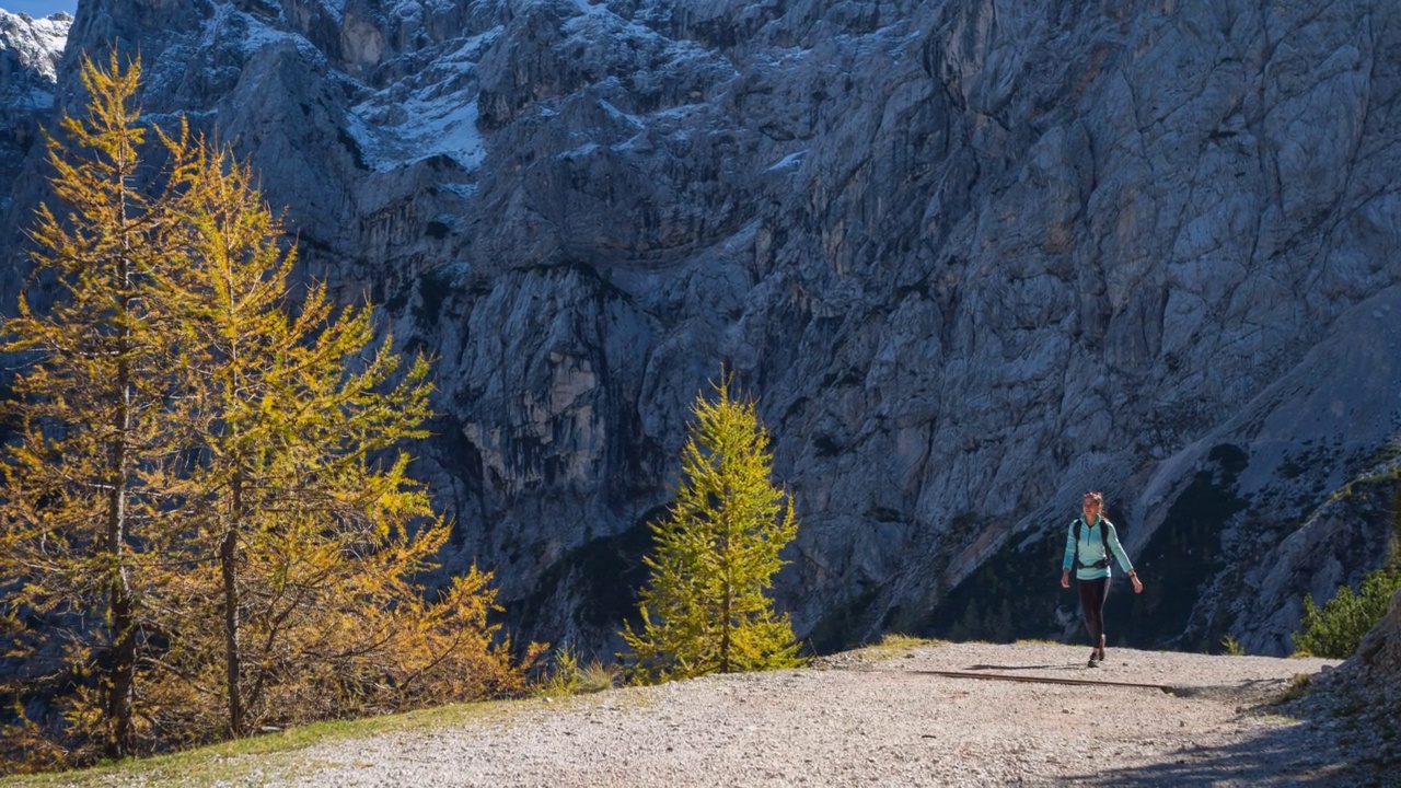
[[[224,655],[219,681],[189,686],[223,687],[234,736],[518,688],[486,621],[490,575],[434,600],[417,580],[450,533],[401,449],[426,436],[427,362],[401,370],[371,311],[338,308],[324,285],[296,297],[294,252],[245,164],[210,150],[198,171],[192,265],[171,289],[193,372],[174,421],[198,425],[181,499],[217,561],[189,597],[219,589],[202,617],[220,625],[199,631],[221,642],[186,638],[179,673]]]

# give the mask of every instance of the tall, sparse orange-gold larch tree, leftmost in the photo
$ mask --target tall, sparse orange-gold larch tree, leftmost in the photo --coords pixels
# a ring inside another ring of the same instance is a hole
[[[41,206],[31,233],[55,306],[39,314],[21,296],[0,345],[29,362],[6,402],[17,437],[0,463],[0,604],[11,653],[24,658],[29,686],[77,684],[64,709],[88,743],[77,750],[95,743],[109,757],[130,754],[142,735],[139,666],[160,634],[149,596],[168,575],[163,554],[177,538],[158,513],[158,478],[174,450],[160,418],[171,327],[150,296],[178,257],[171,209],[188,147],[184,135],[163,136],[165,168],[143,167],[137,76],[137,66],[120,72],[115,55],[106,72],[84,62],[88,115],[62,121],[73,149],[48,140],[63,208]],[[153,198],[149,181],[158,184]]]

